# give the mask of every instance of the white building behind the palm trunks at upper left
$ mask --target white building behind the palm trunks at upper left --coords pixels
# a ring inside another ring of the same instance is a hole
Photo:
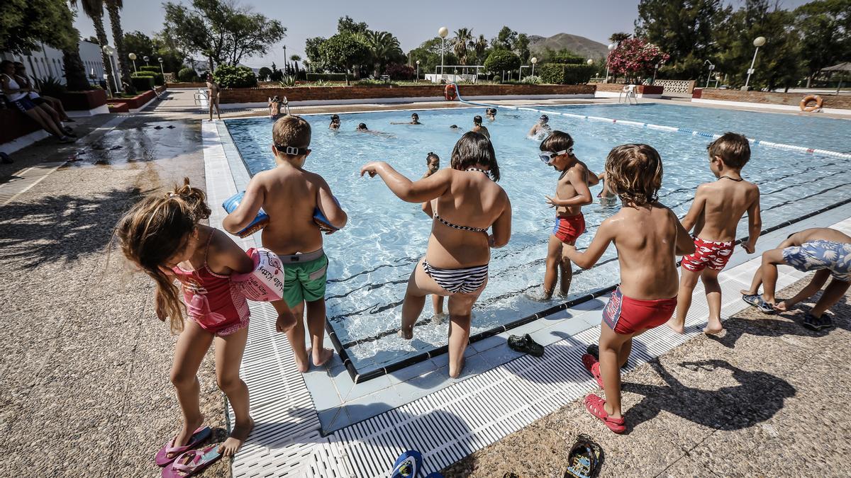
[[[89,78],[89,83],[100,83],[100,80],[104,78],[104,74],[106,73],[103,57],[100,54],[100,46],[97,43],[81,40],[80,58],[86,67],[86,77]],[[115,65],[114,67],[117,68],[117,56],[113,54],[112,58],[112,65]],[[0,53],[0,60],[20,61],[26,65],[26,71],[33,77],[39,79],[54,77],[62,84],[66,83],[62,51],[56,48],[44,45],[42,51],[34,51],[26,55]],[[109,67],[109,65],[106,65],[106,68]]]

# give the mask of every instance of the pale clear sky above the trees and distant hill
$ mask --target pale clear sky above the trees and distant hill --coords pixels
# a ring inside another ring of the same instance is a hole
[[[179,0],[190,3],[189,0]],[[240,0],[255,12],[280,20],[287,27],[287,37],[272,47],[265,57],[246,58],[244,65],[267,66],[283,63],[283,45],[287,56],[305,56],[305,39],[334,35],[337,19],[344,15],[365,21],[372,30],[390,31],[402,43],[404,51],[416,48],[425,40],[437,37],[437,29],[446,26],[452,32],[471,28],[475,36],[483,33],[488,40],[502,26],[528,35],[549,37],[571,33],[608,43],[614,31],[632,32],[637,17],[637,0],[485,0],[414,2],[411,0]],[[734,2],[738,3],[738,2]],[[780,0],[783,8],[792,9],[806,0]],[[157,0],[124,0],[124,31],[142,31],[151,35],[163,29],[163,4]],[[107,36],[111,40],[108,15],[105,14]],[[75,22],[83,37],[94,35],[91,20],[82,11]]]

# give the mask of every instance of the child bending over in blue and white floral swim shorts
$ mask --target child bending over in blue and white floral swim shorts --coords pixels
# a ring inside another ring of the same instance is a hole
[[[777,286],[777,265],[780,264],[816,272],[813,280],[795,297],[775,304],[774,289]],[[767,314],[773,314],[775,310],[785,312],[819,292],[830,276],[833,280],[825,288],[825,293],[804,317],[804,327],[813,330],[834,327],[825,310],[839,302],[851,285],[851,236],[827,227],[802,230],[780,242],[776,249],[762,254],[762,267],[754,274],[751,288],[741,291],[742,299]],[[761,284],[764,288],[762,296],[759,295]]]

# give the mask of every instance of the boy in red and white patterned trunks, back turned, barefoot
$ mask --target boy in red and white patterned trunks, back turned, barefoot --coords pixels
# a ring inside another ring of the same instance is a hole
[[[751,145],[741,134],[727,133],[712,141],[709,151],[709,169],[716,181],[697,188],[694,202],[683,218],[683,227],[694,227],[694,254],[683,258],[680,291],[677,293],[677,316],[668,327],[677,333],[684,332],[688,308],[697,281],[703,281],[706,302],[709,304],[709,321],[704,333],[719,333],[721,325],[721,286],[718,273],[727,265],[733,254],[736,226],[747,213],[748,240],[742,242],[747,253],[753,253],[762,229],[759,214],[759,188],[742,179],[741,169],[751,159]]]

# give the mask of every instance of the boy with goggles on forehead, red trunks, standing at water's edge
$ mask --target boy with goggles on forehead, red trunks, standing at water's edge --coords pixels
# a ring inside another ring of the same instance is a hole
[[[548,166],[556,168],[558,177],[556,197],[546,197],[546,203],[556,208],[556,225],[552,228],[549,246],[546,251],[546,270],[543,290],[530,294],[534,300],[550,300],[556,289],[557,270],[562,272],[562,295],[570,291],[573,270],[570,260],[564,255],[564,249],[574,246],[576,238],[585,232],[585,216],[582,206],[591,204],[591,185],[597,184],[597,174],[590,173],[584,162],[574,156],[574,139],[569,134],[553,131],[540,144],[540,159]]]

